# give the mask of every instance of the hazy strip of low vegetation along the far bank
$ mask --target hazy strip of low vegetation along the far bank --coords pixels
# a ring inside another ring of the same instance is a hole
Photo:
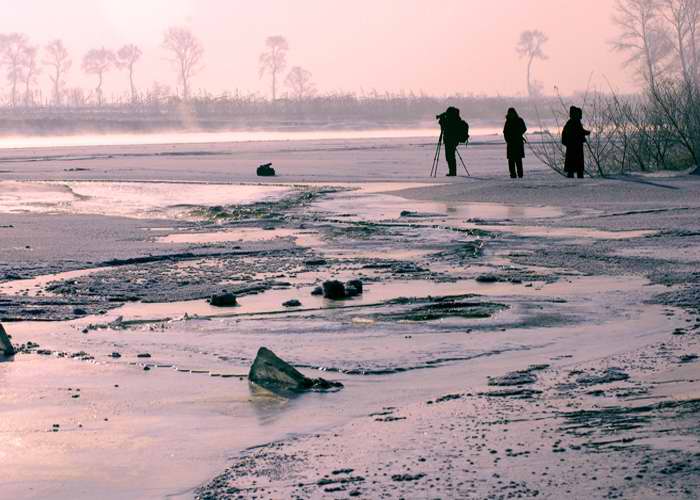
[[[579,99],[579,100],[582,100]],[[576,98],[572,99],[576,102]],[[155,132],[163,130],[358,129],[424,127],[435,115],[456,106],[474,125],[497,125],[513,106],[533,121],[538,109],[554,99],[522,97],[353,94],[270,101],[258,96],[195,96],[151,99],[136,103],[27,106],[0,108],[0,133],[74,134],[83,132]]]

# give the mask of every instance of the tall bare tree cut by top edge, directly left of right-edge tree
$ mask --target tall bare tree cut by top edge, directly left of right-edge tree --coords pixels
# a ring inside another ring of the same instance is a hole
[[[616,0],[615,10],[613,22],[622,32],[612,42],[613,48],[628,53],[625,65],[640,65],[644,79],[654,87],[671,51],[660,20],[659,0]]]

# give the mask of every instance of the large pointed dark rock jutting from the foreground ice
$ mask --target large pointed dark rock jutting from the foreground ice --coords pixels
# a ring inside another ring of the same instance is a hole
[[[305,376],[267,347],[258,350],[248,380],[272,392],[328,391],[343,387],[340,382]]]

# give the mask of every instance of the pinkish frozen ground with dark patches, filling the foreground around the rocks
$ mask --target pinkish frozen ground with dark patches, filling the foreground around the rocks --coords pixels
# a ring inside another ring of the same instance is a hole
[[[700,181],[485,142],[450,182],[411,139],[8,152],[3,491],[697,497]],[[345,388],[250,386],[261,345]]]

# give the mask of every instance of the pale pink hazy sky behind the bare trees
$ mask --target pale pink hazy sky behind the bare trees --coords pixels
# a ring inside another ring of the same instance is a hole
[[[90,87],[80,59],[90,48],[136,43],[144,51],[137,85],[175,85],[160,48],[169,25],[189,27],[205,48],[194,88],[219,93],[236,88],[268,93],[258,78],[265,37],[290,45],[289,66],[313,73],[320,91],[413,90],[428,94],[525,92],[525,62],[514,47],[524,29],[549,36],[549,59],[535,76],[551,91],[584,89],[591,73],[623,90],[634,88],[631,71],[608,41],[612,0],[0,0],[0,31],[28,34],[36,44],[62,38],[73,55],[70,86]],[[46,75],[40,77],[47,86]],[[113,72],[107,94],[127,90],[126,75]]]

